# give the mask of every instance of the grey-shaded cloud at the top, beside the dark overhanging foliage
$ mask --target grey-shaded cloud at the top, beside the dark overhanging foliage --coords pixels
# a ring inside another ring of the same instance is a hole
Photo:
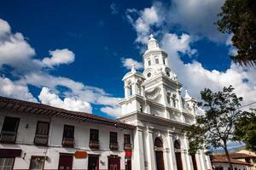
[[[193,36],[224,42],[226,37],[218,32],[214,24],[223,4],[224,0],[173,0],[169,8],[168,23],[171,26],[177,24]]]

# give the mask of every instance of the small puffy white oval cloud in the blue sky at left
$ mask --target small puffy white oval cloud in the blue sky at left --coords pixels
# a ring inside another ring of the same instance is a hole
[[[67,48],[49,51],[51,57],[42,59],[44,65],[53,68],[55,65],[70,64],[75,59],[75,54]]]

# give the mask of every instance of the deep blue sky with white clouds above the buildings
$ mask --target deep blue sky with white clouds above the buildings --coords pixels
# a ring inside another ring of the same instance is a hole
[[[213,24],[224,0],[189,2],[1,0],[0,95],[119,116],[121,79],[153,32],[191,95],[232,84],[255,101],[253,69],[231,63],[232,35]]]

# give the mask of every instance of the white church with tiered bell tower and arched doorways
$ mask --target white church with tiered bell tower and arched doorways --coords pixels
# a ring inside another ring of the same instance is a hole
[[[125,99],[120,122],[136,126],[132,169],[206,170],[211,161],[198,151],[189,156],[189,141],[182,132],[195,123],[196,101],[181,95],[182,84],[168,67],[166,52],[151,35],[143,54],[144,71],[134,66],[125,74]]]

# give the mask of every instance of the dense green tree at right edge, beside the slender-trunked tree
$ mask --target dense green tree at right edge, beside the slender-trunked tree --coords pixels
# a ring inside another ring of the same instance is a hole
[[[256,109],[252,109],[236,122],[234,140],[243,141],[247,150],[256,151]]]

